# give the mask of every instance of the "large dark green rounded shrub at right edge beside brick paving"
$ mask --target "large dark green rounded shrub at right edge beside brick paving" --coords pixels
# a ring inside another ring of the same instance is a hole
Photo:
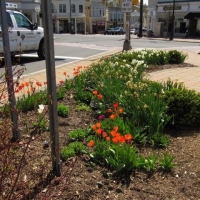
[[[173,88],[163,97],[168,104],[167,113],[173,116],[175,127],[200,126],[200,94],[194,90]]]

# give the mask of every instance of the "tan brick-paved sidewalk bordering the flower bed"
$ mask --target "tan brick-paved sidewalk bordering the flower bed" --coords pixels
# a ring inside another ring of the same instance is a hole
[[[147,38],[147,39],[152,39],[152,38]],[[156,40],[163,40],[163,38],[153,38]],[[181,41],[181,39],[174,39],[174,41]],[[183,39],[185,42],[191,42],[191,39]],[[183,41],[182,40],[182,41]],[[193,42],[199,43],[199,40],[192,40]],[[173,48],[172,48],[173,49]],[[134,50],[134,49],[133,49]],[[93,62],[95,62],[95,60],[100,59],[106,55],[112,55],[115,53],[119,53],[122,51],[122,48],[119,49],[115,49],[115,50],[111,50],[105,53],[101,53],[98,54],[96,56],[91,56],[87,59],[83,59],[83,60],[78,60],[78,61],[74,61],[74,62],[70,62],[67,64],[63,64],[60,65],[56,68],[56,81],[57,84],[59,84],[59,82],[61,80],[65,79],[64,76],[64,72],[67,73],[67,75],[69,76],[69,78],[73,78],[73,72],[74,72],[74,68],[76,68],[77,66],[82,66],[82,67],[86,67],[91,65]],[[185,51],[183,51],[185,52]],[[157,71],[157,72],[153,72],[149,74],[149,78],[151,80],[154,81],[159,81],[159,82],[163,82],[166,81],[168,78],[170,78],[172,81],[178,81],[178,82],[184,82],[185,86],[188,89],[194,89],[198,92],[200,92],[200,55],[198,53],[192,53],[192,52],[185,52],[188,54],[188,58],[185,61],[186,63],[190,63],[193,64],[197,67],[191,67],[191,68],[177,68],[177,69],[166,69],[166,70],[161,70],[161,71]],[[39,81],[41,83],[46,82],[46,71],[40,71],[40,72],[36,72],[33,74],[29,74],[29,75],[25,75],[22,78],[20,78],[20,82],[36,82]]]

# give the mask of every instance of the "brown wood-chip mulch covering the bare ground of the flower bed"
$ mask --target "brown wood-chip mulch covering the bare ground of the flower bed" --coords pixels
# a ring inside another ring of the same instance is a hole
[[[194,67],[189,64],[166,65],[162,69],[173,67]],[[159,66],[160,69],[160,66]],[[154,70],[158,70],[154,67]],[[153,70],[152,70],[153,71]],[[58,122],[61,148],[68,143],[68,133],[84,128],[94,120],[94,113],[75,111],[72,95],[66,94],[62,101],[70,107],[67,118]],[[111,174],[105,168],[89,162],[87,156],[77,156],[62,163],[62,176],[51,173],[51,148],[44,148],[44,142],[50,141],[50,133],[44,132],[30,136],[24,124],[35,121],[37,113],[20,114],[22,140],[20,147],[30,144],[22,162],[21,182],[15,187],[13,199],[61,199],[61,200],[189,200],[200,199],[200,134],[199,130],[166,131],[170,144],[166,149],[140,147],[142,154],[152,151],[167,151],[175,156],[176,166],[171,172],[134,171],[131,174]],[[9,181],[8,181],[9,182]],[[11,180],[10,180],[11,182]],[[8,183],[8,187],[9,187]],[[3,197],[2,197],[3,198]]]

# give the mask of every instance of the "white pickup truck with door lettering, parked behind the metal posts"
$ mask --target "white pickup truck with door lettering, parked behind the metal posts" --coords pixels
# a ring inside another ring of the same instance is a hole
[[[45,59],[43,28],[18,11],[6,10],[6,17],[11,55],[37,52],[39,59]],[[0,56],[4,55],[2,34],[0,20]]]

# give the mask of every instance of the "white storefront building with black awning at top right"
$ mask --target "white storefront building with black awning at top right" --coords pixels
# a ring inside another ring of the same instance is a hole
[[[189,37],[198,37],[200,1],[175,0],[173,5],[173,0],[149,0],[147,27],[154,31],[155,36],[163,37],[169,36],[171,31],[174,32],[174,36],[184,37],[186,27],[189,27]]]

